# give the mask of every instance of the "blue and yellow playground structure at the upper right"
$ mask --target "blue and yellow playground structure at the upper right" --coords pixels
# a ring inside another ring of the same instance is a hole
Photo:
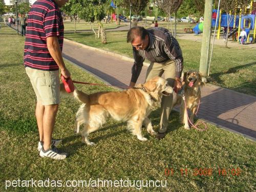
[[[237,41],[239,42],[239,36],[241,29],[245,29],[245,32],[247,33],[247,42],[255,42],[255,34],[256,34],[256,19],[255,19],[255,13],[254,14],[241,14],[241,10],[239,15],[234,14],[228,14],[228,13],[222,13],[222,11],[219,11],[219,15],[217,15],[218,10],[212,11],[212,22],[211,27],[215,27],[217,23],[218,27],[218,33],[217,33],[217,39],[220,39],[220,31],[221,27],[224,27],[224,38],[226,37],[226,33],[228,33],[228,38],[232,36],[233,40],[236,39],[237,34]],[[250,4],[250,11],[252,12],[252,1]],[[229,22],[229,25],[228,25]],[[229,28],[227,28],[229,26]],[[250,35],[250,31],[253,30],[253,36]]]

